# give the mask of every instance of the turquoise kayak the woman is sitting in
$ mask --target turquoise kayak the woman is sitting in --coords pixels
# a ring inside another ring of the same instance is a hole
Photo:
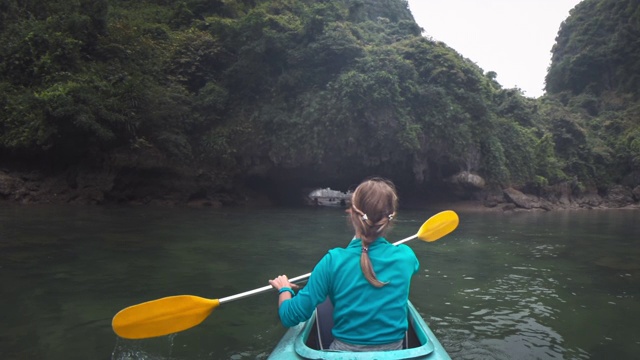
[[[328,305],[327,305],[328,303]],[[331,303],[325,301],[313,312],[311,318],[290,328],[269,355],[268,360],[284,359],[326,359],[326,360],[388,360],[388,359],[428,359],[451,360],[418,310],[407,303],[409,330],[402,350],[347,352],[328,349],[333,341],[331,327]]]

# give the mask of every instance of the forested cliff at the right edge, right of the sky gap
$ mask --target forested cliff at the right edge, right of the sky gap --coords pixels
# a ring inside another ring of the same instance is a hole
[[[544,116],[565,172],[640,185],[640,3],[584,0],[562,24]],[[634,180],[635,179],[635,180]]]

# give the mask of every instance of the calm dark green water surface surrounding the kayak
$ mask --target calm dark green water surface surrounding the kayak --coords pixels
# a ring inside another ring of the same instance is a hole
[[[403,211],[390,241],[445,209]],[[411,300],[454,359],[635,359],[640,212],[465,213],[408,243]],[[285,329],[272,293],[199,326],[119,339],[120,309],[169,295],[221,298],[311,271],[351,238],[337,209],[0,207],[0,358],[265,359]]]

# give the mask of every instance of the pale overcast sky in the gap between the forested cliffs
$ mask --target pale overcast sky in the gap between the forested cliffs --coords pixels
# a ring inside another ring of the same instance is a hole
[[[580,0],[409,0],[423,35],[446,43],[504,88],[543,94],[560,24]]]

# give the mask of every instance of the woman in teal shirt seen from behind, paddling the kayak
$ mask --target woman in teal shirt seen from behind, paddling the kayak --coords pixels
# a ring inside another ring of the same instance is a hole
[[[332,350],[380,351],[402,348],[407,300],[418,259],[406,245],[385,238],[396,216],[398,196],[385,179],[362,182],[347,210],[355,237],[346,248],[330,250],[309,282],[294,295],[286,275],[269,283],[278,290],[278,314],[286,327],[308,320],[327,296],[333,303]]]

